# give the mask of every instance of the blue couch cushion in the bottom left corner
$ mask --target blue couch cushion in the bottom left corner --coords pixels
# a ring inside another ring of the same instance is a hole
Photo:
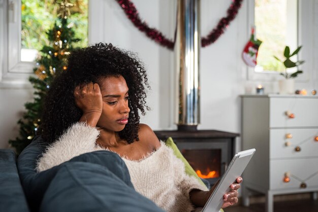
[[[0,211],[29,211],[12,150],[0,150],[0,170]]]

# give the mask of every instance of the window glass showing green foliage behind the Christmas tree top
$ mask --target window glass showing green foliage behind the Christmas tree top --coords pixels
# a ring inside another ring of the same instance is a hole
[[[88,0],[68,1],[75,4],[68,18],[75,30],[75,37],[81,39],[74,47],[87,45]],[[54,0],[21,0],[21,61],[35,61],[43,46],[52,45],[46,32],[57,18],[59,5]]]

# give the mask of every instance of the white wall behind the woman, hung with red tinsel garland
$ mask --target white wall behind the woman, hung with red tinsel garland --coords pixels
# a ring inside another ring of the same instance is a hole
[[[249,39],[247,24],[248,1],[243,1],[236,19],[224,34],[212,45],[201,49],[200,81],[201,81],[201,124],[199,129],[217,129],[240,132],[240,94],[245,90],[255,91],[262,83],[267,92],[277,92],[277,81],[262,82],[249,80],[247,69],[241,59],[241,52]],[[307,66],[305,79],[296,83],[296,88],[307,90],[317,88],[318,43],[313,38],[318,35],[318,2],[300,0],[312,4],[308,13],[309,21],[303,23],[312,31],[312,35],[302,39]],[[218,20],[226,15],[232,1],[201,0],[201,34],[207,33]],[[171,0],[133,0],[141,18],[160,29],[168,38],[173,38],[176,18],[176,1]],[[89,41],[111,42],[113,45],[137,52],[148,70],[151,90],[147,102],[152,108],[142,122],[154,130],[175,129],[175,69],[174,52],[149,40],[140,32],[113,0],[91,0],[89,8]],[[1,32],[0,32],[1,36]],[[313,47],[313,48],[310,48]],[[306,50],[309,48],[309,50]],[[0,60],[1,61],[1,60]],[[23,104],[31,100],[31,90],[24,88],[3,89],[0,86],[0,148],[7,146],[8,138],[17,135],[16,121],[23,111]],[[239,139],[238,139],[239,140]],[[239,149],[239,142],[237,144]]]

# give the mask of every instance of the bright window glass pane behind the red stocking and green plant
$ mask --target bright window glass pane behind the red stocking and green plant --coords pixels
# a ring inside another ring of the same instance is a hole
[[[255,26],[257,38],[263,41],[255,71],[283,71],[273,56],[283,59],[285,46],[291,51],[297,48],[297,0],[255,0]]]

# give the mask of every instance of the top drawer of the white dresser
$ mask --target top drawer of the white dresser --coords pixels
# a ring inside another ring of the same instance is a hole
[[[295,115],[289,118],[286,112]],[[270,98],[270,127],[318,127],[317,98]]]

